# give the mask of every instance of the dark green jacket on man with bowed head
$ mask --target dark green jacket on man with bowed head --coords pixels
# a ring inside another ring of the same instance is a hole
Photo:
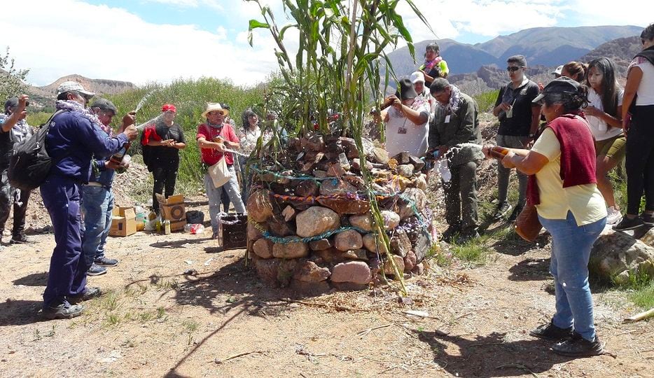
[[[448,146],[452,148],[461,143],[482,142],[479,130],[477,102],[468,94],[461,93],[461,104],[459,109],[450,112],[450,107],[436,106],[433,119],[429,124],[429,148]],[[445,123],[445,118],[450,115],[450,122]],[[460,151],[450,152],[448,157],[452,166],[462,165],[473,160],[481,160],[484,155],[480,148],[464,147]]]

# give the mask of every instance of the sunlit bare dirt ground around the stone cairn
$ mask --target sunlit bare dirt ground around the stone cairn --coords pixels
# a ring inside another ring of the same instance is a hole
[[[654,377],[653,323],[622,323],[635,309],[610,292],[593,294],[606,355],[527,334],[554,311],[546,237],[497,241],[481,267],[433,264],[401,304],[389,287],[298,297],[209,231],[137,232],[110,238],[120,265],[89,279],[104,295],[60,321],[38,314],[54,240],[34,237],[0,251],[0,377]]]

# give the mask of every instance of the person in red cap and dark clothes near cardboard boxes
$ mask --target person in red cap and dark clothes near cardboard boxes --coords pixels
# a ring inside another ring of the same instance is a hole
[[[159,214],[158,194],[169,197],[175,192],[179,150],[186,148],[184,132],[174,123],[177,109],[172,104],[161,107],[162,116],[153,125],[143,130],[141,145],[148,151],[148,169],[154,176],[152,207]],[[165,191],[165,192],[164,192]]]

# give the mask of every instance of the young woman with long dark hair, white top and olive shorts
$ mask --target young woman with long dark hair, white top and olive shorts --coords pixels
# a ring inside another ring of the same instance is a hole
[[[625,158],[627,139],[622,134],[622,94],[624,91],[615,79],[615,64],[601,57],[588,63],[585,85],[588,88],[588,106],[583,109],[595,139],[597,153],[597,188],[606,200],[606,223],[620,221],[620,207],[615,204],[613,187],[606,174]]]

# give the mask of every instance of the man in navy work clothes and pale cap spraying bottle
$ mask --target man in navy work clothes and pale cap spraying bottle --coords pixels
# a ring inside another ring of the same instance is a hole
[[[95,93],[74,81],[62,83],[57,92],[56,107],[61,113],[53,118],[46,136],[46,151],[54,164],[41,185],[41,197],[53,223],[56,243],[43,293],[43,315],[73,318],[84,309],[77,302],[100,293],[98,288],[86,287],[88,266],[81,258],[81,186],[88,183],[93,155],[113,155],[127,141],[136,139],[138,132],[130,125],[109,138],[100,129],[97,116],[85,109]]]

